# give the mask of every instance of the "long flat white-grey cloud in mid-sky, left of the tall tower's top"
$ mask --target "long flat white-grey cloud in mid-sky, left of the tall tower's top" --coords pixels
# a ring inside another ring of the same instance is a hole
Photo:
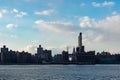
[[[54,32],[74,32],[75,26],[72,22],[63,22],[63,21],[51,21],[47,22],[44,20],[35,21],[38,29],[45,29]]]

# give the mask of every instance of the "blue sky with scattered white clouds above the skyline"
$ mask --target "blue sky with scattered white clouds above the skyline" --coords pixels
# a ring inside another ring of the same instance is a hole
[[[120,53],[120,0],[0,0],[0,47],[60,54],[77,47]]]

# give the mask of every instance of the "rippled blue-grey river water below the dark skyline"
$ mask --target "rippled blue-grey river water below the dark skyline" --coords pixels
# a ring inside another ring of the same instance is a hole
[[[120,80],[120,65],[0,65],[0,80]]]

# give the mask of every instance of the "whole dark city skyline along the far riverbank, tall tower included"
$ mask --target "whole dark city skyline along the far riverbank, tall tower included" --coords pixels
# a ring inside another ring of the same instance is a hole
[[[78,36],[78,47],[73,52],[63,50],[52,55],[51,50],[44,49],[41,45],[34,55],[29,52],[9,50],[4,45],[0,52],[0,64],[120,64],[120,54],[110,52],[86,51],[82,45],[82,33]]]

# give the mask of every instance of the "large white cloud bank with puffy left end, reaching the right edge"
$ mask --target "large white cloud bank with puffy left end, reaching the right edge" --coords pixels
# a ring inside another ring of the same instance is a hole
[[[102,30],[105,32],[111,32],[111,33],[117,33],[120,34],[120,15],[112,15],[108,16],[101,20],[96,20],[93,18],[90,18],[88,16],[80,18],[80,27],[81,28],[94,28],[98,30]]]

